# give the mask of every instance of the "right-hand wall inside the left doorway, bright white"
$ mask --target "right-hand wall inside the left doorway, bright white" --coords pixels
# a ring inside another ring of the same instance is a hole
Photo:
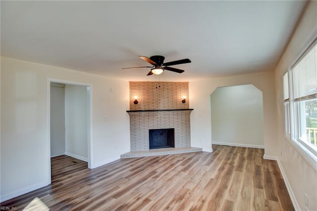
[[[65,155],[88,160],[87,87],[65,85]]]

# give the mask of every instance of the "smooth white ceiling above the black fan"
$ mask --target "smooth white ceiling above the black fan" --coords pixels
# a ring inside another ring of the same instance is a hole
[[[138,56],[182,74],[161,81],[273,71],[306,1],[3,1],[1,55],[124,80],[158,80]]]

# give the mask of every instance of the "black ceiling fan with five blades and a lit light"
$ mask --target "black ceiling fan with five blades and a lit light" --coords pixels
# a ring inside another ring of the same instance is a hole
[[[162,56],[162,55],[153,55],[150,58],[147,57],[147,56],[139,56],[139,57],[153,65],[153,66],[142,66],[142,67],[151,68],[151,71],[148,73],[148,75],[153,75],[153,74],[159,75],[164,70],[169,70],[169,71],[173,71],[173,72],[177,72],[177,73],[182,73],[182,72],[184,72],[184,70],[177,69],[177,68],[174,68],[174,67],[169,67],[169,66],[192,62],[188,58],[185,58],[185,59],[181,59],[181,60],[176,60],[176,61],[170,61],[170,62],[163,63],[165,57]],[[142,68],[142,67],[127,67],[127,68],[122,68],[122,69]]]

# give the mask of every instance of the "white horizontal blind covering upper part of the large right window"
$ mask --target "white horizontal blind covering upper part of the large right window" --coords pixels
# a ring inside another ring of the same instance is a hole
[[[317,42],[292,68],[294,100],[316,98],[317,94]]]

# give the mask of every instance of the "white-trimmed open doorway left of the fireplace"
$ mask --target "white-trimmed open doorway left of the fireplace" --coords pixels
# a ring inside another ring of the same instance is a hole
[[[92,168],[91,91],[90,84],[48,79],[47,124],[50,179],[51,157],[54,156],[66,155],[83,160],[88,163],[89,168]],[[63,97],[64,102],[60,100]]]

